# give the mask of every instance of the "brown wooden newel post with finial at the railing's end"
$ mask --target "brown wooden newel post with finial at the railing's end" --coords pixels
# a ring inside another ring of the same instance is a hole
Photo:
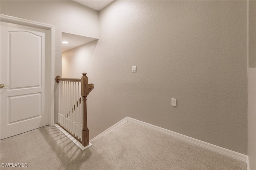
[[[82,130],[82,145],[85,147],[89,145],[89,129],[87,127],[87,106],[86,106],[86,98],[89,94],[89,84],[88,77],[86,73],[83,73],[81,78],[81,95],[83,100],[83,130]]]

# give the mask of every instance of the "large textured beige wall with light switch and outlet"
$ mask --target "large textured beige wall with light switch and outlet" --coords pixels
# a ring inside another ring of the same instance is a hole
[[[247,154],[246,3],[114,1],[101,10],[86,68],[90,137],[129,116]]]

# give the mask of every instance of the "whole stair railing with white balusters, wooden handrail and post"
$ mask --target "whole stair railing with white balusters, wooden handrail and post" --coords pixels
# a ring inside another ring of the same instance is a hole
[[[94,88],[88,84],[86,73],[82,78],[61,78],[59,83],[58,125],[78,140],[84,147],[89,145],[86,98]]]

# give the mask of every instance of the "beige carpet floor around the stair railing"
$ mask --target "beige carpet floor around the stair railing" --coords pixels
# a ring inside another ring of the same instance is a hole
[[[1,169],[245,170],[246,163],[135,123],[125,123],[80,150],[56,127],[42,127],[0,141]],[[28,164],[5,168],[2,163]]]

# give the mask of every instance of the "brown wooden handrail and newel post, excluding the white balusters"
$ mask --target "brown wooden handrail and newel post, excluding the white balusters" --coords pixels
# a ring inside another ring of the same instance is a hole
[[[60,81],[68,81],[68,82],[81,82],[81,99],[83,102],[83,129],[82,129],[82,139],[81,143],[85,147],[89,145],[89,129],[87,127],[87,106],[86,106],[86,98],[88,94],[94,89],[94,84],[88,84],[88,77],[86,73],[82,73],[82,78],[61,78],[60,76],[56,76],[55,81],[58,83]],[[70,132],[69,132],[70,133]],[[72,134],[71,134],[72,135]]]

